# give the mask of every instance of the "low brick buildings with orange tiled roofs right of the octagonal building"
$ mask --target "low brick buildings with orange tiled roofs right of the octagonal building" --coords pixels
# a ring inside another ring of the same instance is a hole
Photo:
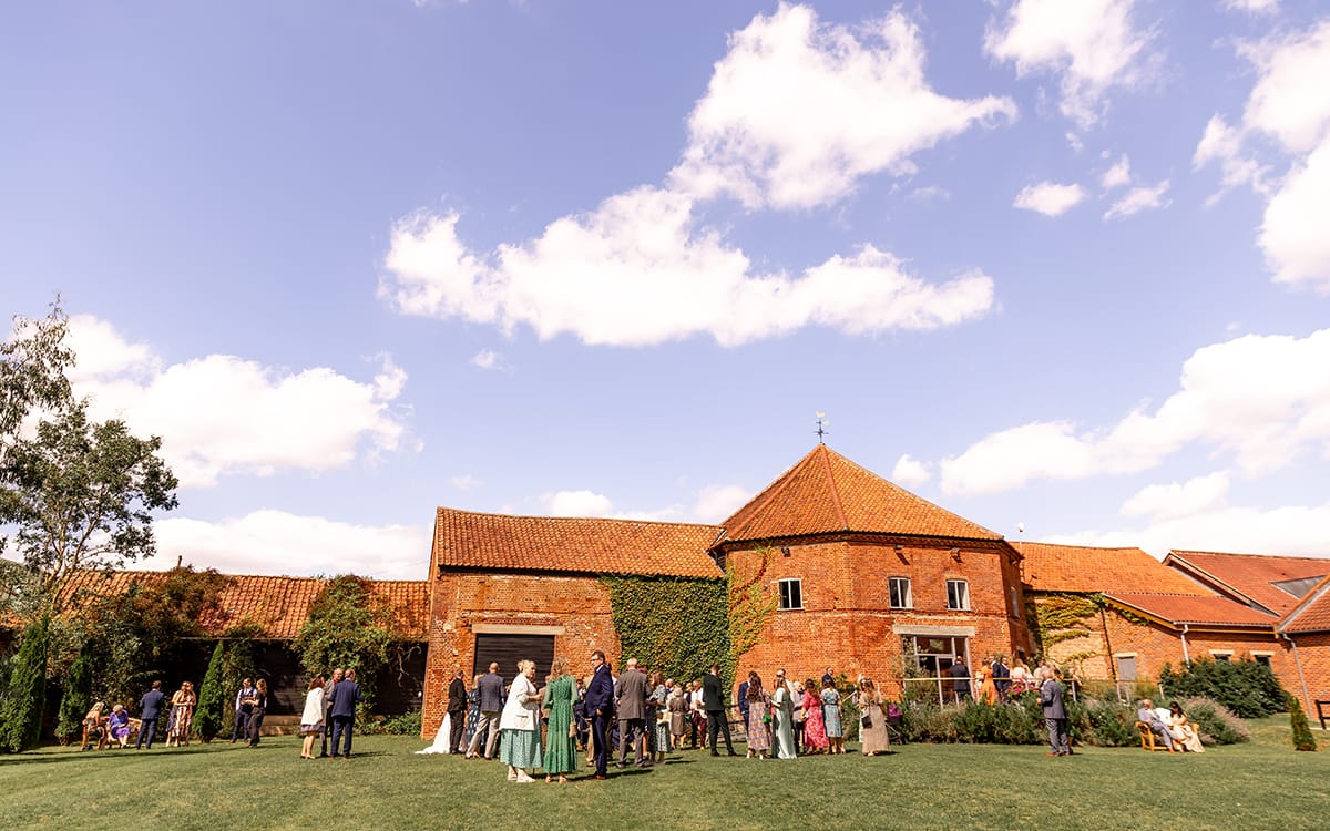
[[[1036,633],[1044,652],[1077,677],[1133,682],[1198,658],[1252,659],[1309,713],[1330,699],[1330,560],[1174,550],[1160,562],[1137,548],[1017,548],[1040,620],[1061,613]],[[1077,608],[1077,596],[1103,602]]]

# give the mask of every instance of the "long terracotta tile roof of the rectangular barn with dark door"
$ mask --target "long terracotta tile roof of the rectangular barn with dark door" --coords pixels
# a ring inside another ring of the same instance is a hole
[[[508,516],[439,508],[435,562],[451,568],[721,577],[716,525]]]

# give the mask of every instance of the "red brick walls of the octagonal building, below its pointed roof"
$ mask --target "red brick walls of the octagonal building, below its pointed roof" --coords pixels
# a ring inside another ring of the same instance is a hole
[[[755,670],[769,682],[775,669],[783,667],[793,678],[821,678],[830,665],[851,678],[862,673],[878,679],[890,695],[898,695],[902,654],[895,625],[972,626],[972,661],[1027,648],[1024,622],[1011,614],[1023,604],[1019,577],[1005,549],[974,549],[963,542],[956,546],[959,560],[947,542],[902,545],[899,552],[891,544],[871,542],[790,545],[789,556],[778,550],[763,584],[774,593],[779,580],[798,578],[803,609],[771,614],[758,645],[741,658],[738,677]],[[728,557],[747,574],[759,561],[753,550],[730,552]],[[911,580],[914,609],[890,609],[891,577]],[[947,580],[968,582],[968,612],[947,609]]]

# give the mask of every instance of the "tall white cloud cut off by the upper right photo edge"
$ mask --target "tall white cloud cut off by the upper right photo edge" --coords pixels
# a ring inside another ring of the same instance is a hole
[[[1242,122],[1216,114],[1205,125],[1193,166],[1220,165],[1224,187],[1250,183],[1269,198],[1258,242],[1277,282],[1330,293],[1330,20],[1305,32],[1240,44],[1256,68]],[[1290,160],[1287,174],[1262,164],[1270,146]],[[1216,197],[1212,197],[1213,202]]]

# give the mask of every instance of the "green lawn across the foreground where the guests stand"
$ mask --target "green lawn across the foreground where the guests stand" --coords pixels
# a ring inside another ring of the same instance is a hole
[[[759,762],[685,751],[567,786],[511,784],[497,762],[415,755],[426,743],[400,737],[358,737],[350,762],[302,761],[286,737],[253,750],[48,747],[0,757],[0,807],[7,828],[1325,828],[1330,753],[1294,753],[1286,717],[1252,726],[1252,743],[1204,755],[907,745],[872,759]]]

